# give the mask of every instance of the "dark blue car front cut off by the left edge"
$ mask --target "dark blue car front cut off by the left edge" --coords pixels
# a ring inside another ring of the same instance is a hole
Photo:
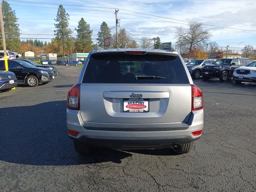
[[[0,91],[8,91],[18,85],[18,80],[13,72],[0,70]]]

